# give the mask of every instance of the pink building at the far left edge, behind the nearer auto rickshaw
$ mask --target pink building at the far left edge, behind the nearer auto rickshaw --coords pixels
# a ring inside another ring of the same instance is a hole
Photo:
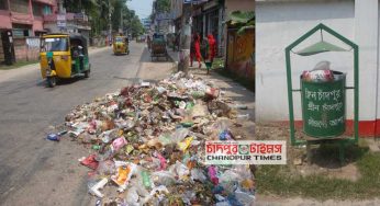
[[[30,58],[29,48],[35,50],[38,44],[34,36],[45,33],[43,16],[54,11],[55,3],[55,0],[0,0],[1,62]]]

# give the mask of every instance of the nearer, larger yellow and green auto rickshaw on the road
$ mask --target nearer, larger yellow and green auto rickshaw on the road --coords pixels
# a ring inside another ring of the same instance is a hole
[[[46,34],[41,37],[41,75],[48,87],[58,79],[88,78],[91,70],[87,39],[81,34]]]

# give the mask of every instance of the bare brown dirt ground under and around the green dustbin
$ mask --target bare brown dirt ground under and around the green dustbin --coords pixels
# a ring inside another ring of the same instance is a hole
[[[298,134],[300,137],[302,134]],[[256,125],[256,138],[262,140],[287,140],[288,170],[283,175],[309,176],[324,175],[332,179],[357,181],[360,172],[355,164],[355,157],[350,148],[346,149],[346,163],[340,164],[338,148],[329,145],[315,145],[311,148],[312,159],[308,163],[305,146],[290,146],[289,127],[276,123]],[[302,138],[302,137],[301,137]]]

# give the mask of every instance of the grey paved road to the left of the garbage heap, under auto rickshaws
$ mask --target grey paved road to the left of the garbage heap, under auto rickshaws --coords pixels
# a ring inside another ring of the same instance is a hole
[[[45,140],[47,128],[62,124],[76,105],[134,81],[143,50],[143,44],[131,43],[128,56],[114,56],[111,48],[93,53],[89,79],[54,89],[45,87],[37,68],[0,76],[0,205],[89,205],[88,170],[77,160],[88,151]]]

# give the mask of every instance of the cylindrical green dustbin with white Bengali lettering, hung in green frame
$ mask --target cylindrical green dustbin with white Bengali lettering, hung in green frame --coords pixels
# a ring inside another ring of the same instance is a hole
[[[346,73],[333,71],[334,81],[305,81],[301,76],[303,131],[315,138],[340,136],[346,130]]]

